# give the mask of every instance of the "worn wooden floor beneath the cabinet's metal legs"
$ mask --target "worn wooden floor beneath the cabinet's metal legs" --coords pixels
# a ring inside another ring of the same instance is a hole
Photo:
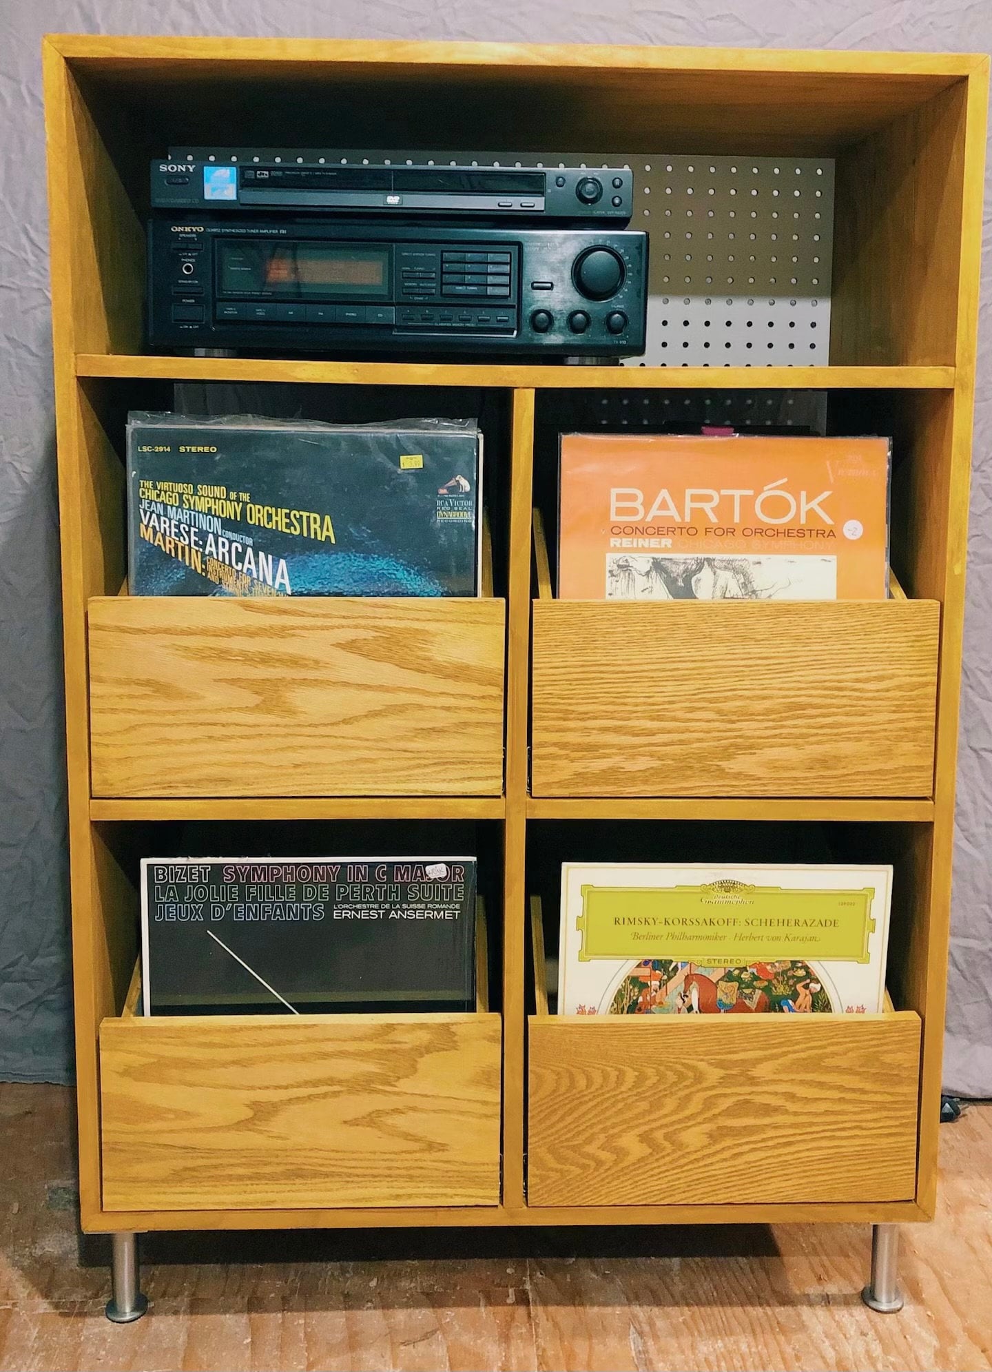
[[[858,1297],[867,1228],[384,1231],[150,1238],[125,1328],[103,1240],[77,1244],[71,1109],[0,1085],[3,1372],[992,1368],[992,1106],[941,1128],[899,1316]]]

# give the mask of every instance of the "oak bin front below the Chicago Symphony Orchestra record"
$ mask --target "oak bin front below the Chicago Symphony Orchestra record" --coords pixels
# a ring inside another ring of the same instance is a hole
[[[498,796],[501,600],[96,598],[93,796]]]

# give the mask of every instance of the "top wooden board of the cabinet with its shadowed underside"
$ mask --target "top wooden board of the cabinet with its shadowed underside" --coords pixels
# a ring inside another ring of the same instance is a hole
[[[140,110],[152,137],[200,145],[428,147],[454,134],[467,150],[656,152],[664,143],[671,152],[833,155],[914,114],[985,62],[482,43],[48,41],[93,97]]]

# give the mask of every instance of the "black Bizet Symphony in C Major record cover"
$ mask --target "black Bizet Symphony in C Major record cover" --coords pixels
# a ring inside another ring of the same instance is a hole
[[[475,858],[144,858],[144,1014],[472,1011],[475,895]]]

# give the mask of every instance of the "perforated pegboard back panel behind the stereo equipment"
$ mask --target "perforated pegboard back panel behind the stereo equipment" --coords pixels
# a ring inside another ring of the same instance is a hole
[[[172,148],[180,158],[204,148]],[[313,148],[217,148],[218,161]],[[322,148],[328,162],[622,166],[631,229],[650,240],[648,346],[626,366],[825,366],[830,361],[834,163],[830,158],[469,154]]]

